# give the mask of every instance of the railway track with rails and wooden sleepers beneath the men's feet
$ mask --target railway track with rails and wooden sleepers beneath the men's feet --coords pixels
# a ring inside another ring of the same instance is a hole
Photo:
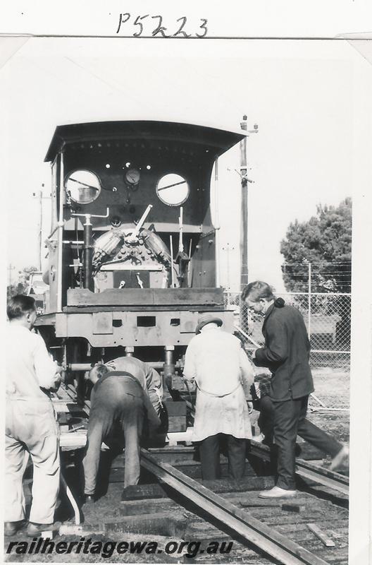
[[[73,393],[68,388],[68,400],[73,400]],[[89,413],[89,403],[84,410]],[[81,452],[68,451],[64,456],[64,475],[75,494]],[[199,547],[192,558],[185,549],[161,554],[161,562],[346,565],[347,477],[297,459],[298,496],[280,501],[259,499],[259,492],[274,484],[270,458],[266,446],[252,442],[242,480],[228,478],[227,460],[222,456],[221,480],[202,481],[194,447],[142,449],[141,484],[123,492],[125,456],[121,453],[112,459],[106,453],[100,480],[104,496],[82,507],[83,528],[108,540],[140,536],[156,539],[160,545],[177,540],[178,547],[182,542],[186,549],[190,542]],[[233,545],[223,556],[206,555],[211,542]],[[144,555],[131,558],[150,560]]]

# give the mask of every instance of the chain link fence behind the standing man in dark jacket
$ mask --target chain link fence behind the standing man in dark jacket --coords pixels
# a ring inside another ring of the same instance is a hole
[[[311,343],[311,367],[349,371],[351,294],[286,292],[280,297],[304,316]],[[261,347],[263,320],[247,309],[240,292],[225,292],[225,307],[234,311],[235,328],[247,352]]]

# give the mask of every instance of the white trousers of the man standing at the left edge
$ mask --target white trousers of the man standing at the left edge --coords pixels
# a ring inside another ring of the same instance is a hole
[[[58,424],[48,399],[6,397],[4,521],[25,518],[23,474],[34,465],[30,522],[49,524],[59,489]]]

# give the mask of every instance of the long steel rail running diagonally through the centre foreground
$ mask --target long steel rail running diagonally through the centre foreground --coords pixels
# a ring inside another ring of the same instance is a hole
[[[274,559],[278,559],[283,565],[327,565],[327,561],[253,518],[247,511],[237,508],[172,465],[156,460],[143,448],[141,465],[152,472],[160,482],[168,484],[187,500],[206,511],[209,516],[216,518]]]

